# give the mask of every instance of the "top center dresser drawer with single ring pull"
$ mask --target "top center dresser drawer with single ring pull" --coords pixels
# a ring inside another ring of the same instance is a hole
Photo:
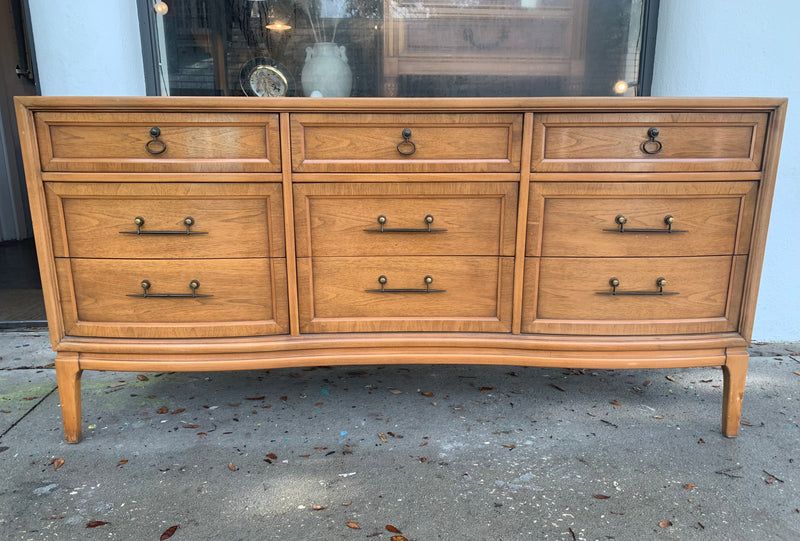
[[[292,115],[297,172],[518,172],[522,115]]]

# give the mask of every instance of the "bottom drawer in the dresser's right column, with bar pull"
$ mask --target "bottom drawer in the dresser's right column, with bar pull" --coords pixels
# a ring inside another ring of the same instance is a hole
[[[746,261],[746,256],[529,258],[523,331],[607,335],[735,331]],[[663,287],[659,278],[666,280]],[[616,290],[612,279],[618,280]]]

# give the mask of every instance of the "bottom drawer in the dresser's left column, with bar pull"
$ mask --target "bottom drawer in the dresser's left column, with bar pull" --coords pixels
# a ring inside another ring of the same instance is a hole
[[[178,338],[289,330],[284,259],[57,259],[56,269],[68,335]]]

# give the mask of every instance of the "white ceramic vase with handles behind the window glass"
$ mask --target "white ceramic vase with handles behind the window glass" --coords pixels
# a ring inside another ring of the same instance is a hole
[[[300,77],[306,96],[315,93],[315,96],[344,98],[350,95],[353,87],[353,72],[347,65],[347,53],[344,46],[335,43],[315,43],[313,47],[306,47],[306,63]]]

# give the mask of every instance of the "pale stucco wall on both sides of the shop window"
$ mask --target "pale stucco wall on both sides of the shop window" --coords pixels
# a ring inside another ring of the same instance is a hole
[[[29,0],[42,93],[145,93],[135,0]],[[798,0],[662,0],[653,95],[790,99],[754,340],[800,340]]]

